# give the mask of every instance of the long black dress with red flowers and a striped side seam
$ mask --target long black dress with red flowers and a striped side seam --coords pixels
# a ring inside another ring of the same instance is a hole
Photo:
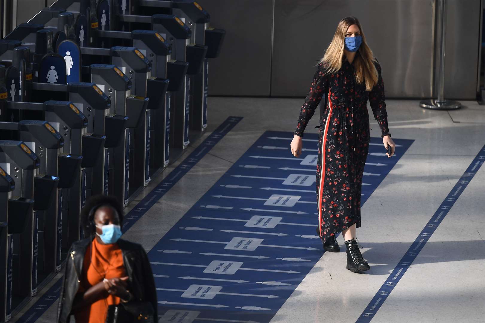
[[[320,64],[294,131],[303,137],[308,120],[328,93],[321,106],[317,161],[318,221],[323,242],[349,226],[361,225],[362,176],[370,141],[368,99],[382,137],[390,136],[381,66],[374,64],[379,78],[371,92],[365,84],[356,83],[354,65],[345,55],[337,73],[325,75]]]

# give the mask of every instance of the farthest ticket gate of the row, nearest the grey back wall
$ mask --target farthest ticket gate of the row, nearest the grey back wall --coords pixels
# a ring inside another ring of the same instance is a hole
[[[203,131],[207,127],[207,95],[209,60],[219,55],[225,30],[209,27],[210,15],[197,2],[186,0],[134,0],[131,8],[139,15],[176,15],[192,30],[190,43],[208,46],[201,70],[192,78],[190,129]]]

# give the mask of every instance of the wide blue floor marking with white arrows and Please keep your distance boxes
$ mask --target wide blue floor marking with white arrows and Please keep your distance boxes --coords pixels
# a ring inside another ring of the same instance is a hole
[[[318,135],[305,134],[300,158],[291,139],[266,131],[150,250],[159,322],[270,322],[322,257]],[[387,158],[371,138],[362,204],[413,142],[394,141]]]

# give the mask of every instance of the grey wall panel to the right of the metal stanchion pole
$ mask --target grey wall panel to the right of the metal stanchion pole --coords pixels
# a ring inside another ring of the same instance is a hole
[[[444,95],[448,99],[475,100],[481,3],[480,0],[446,0],[446,5]]]

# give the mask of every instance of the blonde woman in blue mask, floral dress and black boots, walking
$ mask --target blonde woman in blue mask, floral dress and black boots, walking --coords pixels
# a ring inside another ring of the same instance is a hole
[[[313,76],[310,92],[301,108],[291,141],[291,153],[301,155],[303,132],[320,105],[320,135],[317,161],[317,233],[323,248],[339,252],[335,236],[340,231],[347,248],[346,268],[354,273],[370,269],[356,242],[360,223],[362,176],[369,150],[369,99],[390,155],[394,142],[388,129],[381,66],[366,43],[354,16],[340,20],[333,40]]]

